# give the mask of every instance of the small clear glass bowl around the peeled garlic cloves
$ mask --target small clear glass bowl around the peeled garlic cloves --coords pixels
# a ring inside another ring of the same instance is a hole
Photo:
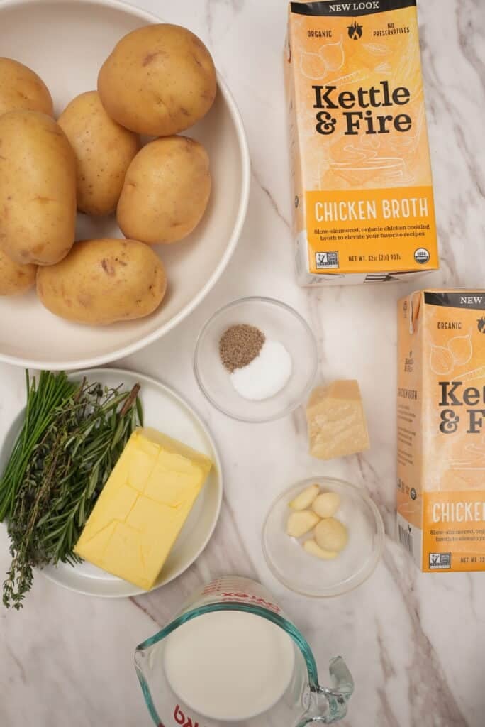
[[[341,506],[335,513],[349,531],[349,542],[332,561],[322,561],[303,550],[301,539],[286,534],[288,503],[312,484],[322,492],[336,492]],[[273,503],[263,526],[263,552],[273,575],[287,588],[302,595],[325,598],[347,593],[361,585],[375,570],[384,547],[384,525],[378,508],[364,490],[343,480],[314,477],[299,482]]]

